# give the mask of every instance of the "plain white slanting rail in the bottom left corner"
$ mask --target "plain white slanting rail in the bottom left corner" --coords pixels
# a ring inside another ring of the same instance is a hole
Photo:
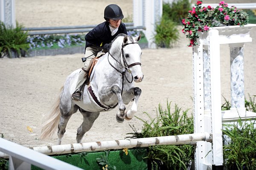
[[[45,170],[82,170],[3,138],[0,138],[0,151],[9,155],[9,170],[30,170],[31,164]]]

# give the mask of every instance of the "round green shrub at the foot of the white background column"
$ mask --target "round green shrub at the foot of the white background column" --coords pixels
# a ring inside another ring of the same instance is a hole
[[[172,20],[162,17],[161,22],[156,25],[154,40],[157,46],[171,48],[179,39],[177,25]]]

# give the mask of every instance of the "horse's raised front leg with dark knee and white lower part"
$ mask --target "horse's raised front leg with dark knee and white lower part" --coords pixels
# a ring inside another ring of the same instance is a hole
[[[141,89],[139,87],[134,87],[128,91],[128,95],[134,95],[134,103],[132,104],[131,109],[125,112],[125,120],[130,121],[134,117],[134,114],[137,112]]]

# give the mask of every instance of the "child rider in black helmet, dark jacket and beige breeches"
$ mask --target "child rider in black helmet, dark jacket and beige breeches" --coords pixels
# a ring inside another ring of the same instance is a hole
[[[93,58],[97,55],[99,56],[98,53],[101,51],[108,52],[110,49],[109,43],[111,43],[118,34],[123,33],[127,35],[125,24],[121,22],[123,17],[122,10],[119,6],[116,4],[108,5],[104,10],[104,18],[106,21],[100,23],[85,35],[86,44],[84,54],[86,61],[83,60],[84,67],[79,72],[76,90],[72,94],[73,100],[81,101],[82,87],[87,81]]]

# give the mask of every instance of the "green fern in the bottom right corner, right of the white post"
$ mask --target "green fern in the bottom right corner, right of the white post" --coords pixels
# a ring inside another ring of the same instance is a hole
[[[255,121],[238,120],[225,124],[222,130],[231,140],[223,146],[224,166],[227,170],[256,170]]]

